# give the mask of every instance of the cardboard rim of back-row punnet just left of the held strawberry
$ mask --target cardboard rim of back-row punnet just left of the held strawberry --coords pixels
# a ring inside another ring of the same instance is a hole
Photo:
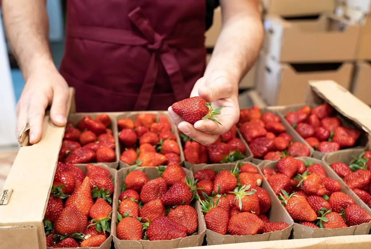
[[[122,113],[122,114],[119,114],[116,116],[116,129],[118,130],[118,126],[117,126],[117,121],[121,118],[130,118],[132,121],[135,121],[135,118],[137,117],[138,114],[141,114],[141,113],[148,113],[148,114],[162,114],[162,115],[165,115],[170,124],[171,124],[171,131],[174,133],[176,139],[177,139],[177,144],[178,144],[178,147],[179,147],[179,150],[180,150],[180,164],[184,162],[184,153],[183,153],[183,147],[182,147],[182,143],[181,143],[181,140],[180,140],[180,136],[179,136],[179,132],[178,132],[178,128],[174,125],[174,123],[171,121],[171,118],[168,114],[167,111],[137,111],[137,112],[125,112],[125,113]],[[120,132],[120,131],[118,131]],[[119,154],[121,155],[121,144],[118,142],[119,144]],[[120,157],[119,155],[119,157]],[[132,167],[131,165],[128,165],[126,163],[124,163],[123,161],[119,160],[119,168],[128,168],[128,167]]]

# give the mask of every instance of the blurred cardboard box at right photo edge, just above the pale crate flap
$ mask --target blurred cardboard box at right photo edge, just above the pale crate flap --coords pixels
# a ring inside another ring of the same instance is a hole
[[[371,43],[370,43],[371,44]],[[367,105],[371,105],[370,89],[371,89],[371,62],[359,61],[355,65],[355,73],[352,84],[352,94]]]

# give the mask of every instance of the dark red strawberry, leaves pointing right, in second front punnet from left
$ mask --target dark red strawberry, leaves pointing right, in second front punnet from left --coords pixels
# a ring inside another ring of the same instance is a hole
[[[161,200],[165,206],[177,206],[182,203],[189,205],[193,198],[191,189],[196,185],[194,182],[190,182],[187,179],[181,183],[174,183],[168,191],[166,191]]]

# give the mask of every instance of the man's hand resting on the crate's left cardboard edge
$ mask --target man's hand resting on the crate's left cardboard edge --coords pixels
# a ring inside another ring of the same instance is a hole
[[[58,126],[66,124],[68,85],[54,65],[42,65],[29,75],[17,104],[17,134],[30,125],[30,143],[39,142],[43,132],[45,109],[52,105],[50,118]]]

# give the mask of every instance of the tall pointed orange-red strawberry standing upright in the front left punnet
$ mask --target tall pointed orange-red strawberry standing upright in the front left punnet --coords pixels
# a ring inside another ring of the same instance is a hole
[[[75,206],[76,209],[85,215],[89,214],[89,210],[91,206],[93,206],[89,177],[85,177],[79,189],[75,190],[73,194],[66,200],[65,209],[70,206]]]

